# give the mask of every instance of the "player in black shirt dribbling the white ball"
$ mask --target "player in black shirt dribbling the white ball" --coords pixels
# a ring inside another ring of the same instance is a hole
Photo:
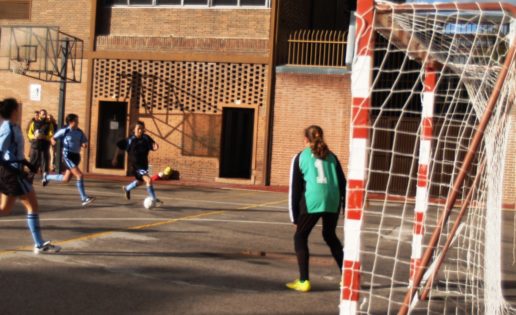
[[[131,190],[145,182],[149,197],[156,202],[156,205],[160,206],[163,204],[163,202],[156,197],[153,181],[149,175],[149,152],[158,149],[158,144],[149,135],[145,134],[145,124],[143,121],[136,122],[133,127],[133,134],[129,138],[120,140],[117,143],[117,149],[112,161],[113,165],[117,164],[120,152],[122,150],[127,151],[129,164],[136,179],[129,185],[122,186],[127,200],[131,200]]]

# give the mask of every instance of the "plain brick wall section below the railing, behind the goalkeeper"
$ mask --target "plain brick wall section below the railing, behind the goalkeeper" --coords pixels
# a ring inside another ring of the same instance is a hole
[[[350,80],[349,74],[277,74],[272,185],[288,185],[292,157],[303,149],[304,128],[312,124],[323,128],[330,150],[347,172]]]

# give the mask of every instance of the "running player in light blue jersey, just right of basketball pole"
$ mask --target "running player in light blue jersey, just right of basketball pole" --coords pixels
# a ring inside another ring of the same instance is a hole
[[[83,174],[79,168],[79,163],[81,162],[81,148],[88,147],[88,138],[86,138],[84,132],[79,129],[79,117],[77,115],[68,114],[68,116],[66,116],[66,124],[67,126],[57,131],[52,138],[52,145],[56,144],[56,140],[62,140],[63,161],[67,167],[66,172],[64,175],[55,174],[43,176],[42,184],[46,186],[50,181],[68,183],[73,175],[77,179],[76,185],[81,196],[82,205],[87,206],[92,203],[95,198],[86,194]]]

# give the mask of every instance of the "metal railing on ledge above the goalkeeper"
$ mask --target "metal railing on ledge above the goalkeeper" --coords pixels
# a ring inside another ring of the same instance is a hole
[[[345,67],[347,32],[299,30],[288,39],[288,65]]]

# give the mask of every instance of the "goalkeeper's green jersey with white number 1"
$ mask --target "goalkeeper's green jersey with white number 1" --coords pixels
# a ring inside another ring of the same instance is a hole
[[[310,148],[301,152],[299,168],[306,183],[305,200],[308,213],[336,213],[339,210],[337,163],[337,158],[331,153],[322,160],[316,158]]]

